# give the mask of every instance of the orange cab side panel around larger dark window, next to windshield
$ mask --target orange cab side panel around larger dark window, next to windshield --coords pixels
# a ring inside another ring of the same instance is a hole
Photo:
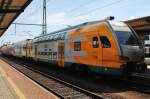
[[[100,27],[100,42],[102,46],[102,64],[105,67],[114,68],[118,66],[118,49],[113,33],[107,25]]]

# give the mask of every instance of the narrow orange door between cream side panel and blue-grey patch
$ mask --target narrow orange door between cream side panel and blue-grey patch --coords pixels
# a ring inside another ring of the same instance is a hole
[[[58,65],[64,67],[64,42],[58,43]]]

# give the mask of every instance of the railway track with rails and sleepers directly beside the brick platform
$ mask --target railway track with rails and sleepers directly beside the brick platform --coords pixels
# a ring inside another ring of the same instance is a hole
[[[88,90],[82,89],[78,86],[47,75],[46,73],[43,73],[37,69],[10,61],[5,58],[1,59],[61,99],[105,99],[105,97],[100,94],[95,94]]]

